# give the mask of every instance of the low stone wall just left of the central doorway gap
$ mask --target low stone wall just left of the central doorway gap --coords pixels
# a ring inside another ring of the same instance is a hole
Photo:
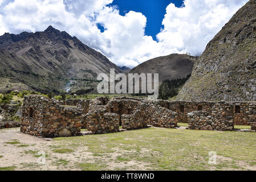
[[[119,131],[120,116],[105,113],[105,110],[91,111],[86,115],[87,130],[92,134],[115,133]]]

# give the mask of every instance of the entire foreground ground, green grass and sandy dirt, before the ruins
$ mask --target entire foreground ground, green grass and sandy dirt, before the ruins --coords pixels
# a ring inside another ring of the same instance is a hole
[[[45,142],[9,129],[0,140],[0,170],[256,170],[256,133],[151,127]]]

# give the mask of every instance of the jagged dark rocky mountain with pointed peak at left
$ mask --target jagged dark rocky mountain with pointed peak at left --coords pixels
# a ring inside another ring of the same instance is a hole
[[[43,32],[0,36],[0,77],[13,84],[42,92],[60,91],[69,80],[83,80],[88,85],[97,74],[109,74],[111,68],[123,72],[100,52],[52,26]]]

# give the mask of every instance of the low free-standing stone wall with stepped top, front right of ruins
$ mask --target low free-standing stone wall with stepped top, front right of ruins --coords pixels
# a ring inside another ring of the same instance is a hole
[[[217,130],[233,131],[233,120],[216,119],[207,111],[193,111],[188,113],[189,130]]]

